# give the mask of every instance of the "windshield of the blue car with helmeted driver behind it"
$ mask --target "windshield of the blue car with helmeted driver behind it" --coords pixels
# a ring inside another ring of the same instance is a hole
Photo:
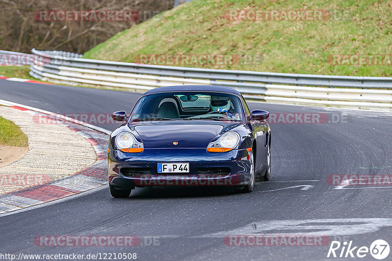
[[[220,92],[164,92],[142,97],[129,118],[134,121],[243,121],[241,99]]]

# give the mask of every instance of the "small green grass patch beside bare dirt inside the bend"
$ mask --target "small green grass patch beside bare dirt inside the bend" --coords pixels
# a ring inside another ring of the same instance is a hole
[[[12,121],[0,117],[0,144],[27,147],[27,136]]]

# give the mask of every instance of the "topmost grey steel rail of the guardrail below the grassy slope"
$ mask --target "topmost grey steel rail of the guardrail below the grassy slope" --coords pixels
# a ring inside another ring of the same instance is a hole
[[[57,55],[55,53],[56,51],[38,51],[33,49],[32,52],[37,55],[47,54],[50,57]],[[67,59],[67,57],[64,59],[57,57],[57,59],[59,60],[54,61],[54,64],[63,66],[172,77],[228,80],[237,82],[259,82],[268,84],[289,84],[298,86],[392,89],[392,77],[330,76],[314,74],[217,70],[179,66],[143,65],[92,59]]]

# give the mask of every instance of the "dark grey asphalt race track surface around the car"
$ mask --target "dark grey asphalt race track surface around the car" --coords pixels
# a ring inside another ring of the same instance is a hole
[[[0,80],[0,99],[61,114],[111,113],[122,109],[129,112],[139,96],[114,90]],[[369,247],[375,239],[384,239],[391,245],[391,186],[338,187],[326,181],[331,174],[392,174],[391,113],[267,103],[248,105],[250,109],[273,113],[327,113],[330,121],[343,115],[344,120],[322,124],[270,123],[271,179],[257,183],[252,193],[239,194],[223,188],[152,187],[137,188],[129,198],[115,199],[108,189],[103,189],[0,217],[1,253],[137,253],[137,260],[358,259],[327,258],[329,245],[228,246],[223,242],[225,235],[258,233],[317,232],[331,240],[352,240],[355,246]],[[332,226],[337,229],[331,231]],[[41,235],[134,235],[141,238],[141,244],[37,246],[34,238]],[[149,237],[157,237],[155,245],[149,243]],[[386,260],[391,257],[392,253]],[[374,259],[368,254],[360,260]]]

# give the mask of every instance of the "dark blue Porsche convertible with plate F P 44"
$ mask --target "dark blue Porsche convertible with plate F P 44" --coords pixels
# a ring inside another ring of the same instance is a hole
[[[249,111],[241,93],[220,86],[151,89],[108,143],[110,193],[144,186],[237,186],[251,192],[270,178],[271,130],[265,110]]]

